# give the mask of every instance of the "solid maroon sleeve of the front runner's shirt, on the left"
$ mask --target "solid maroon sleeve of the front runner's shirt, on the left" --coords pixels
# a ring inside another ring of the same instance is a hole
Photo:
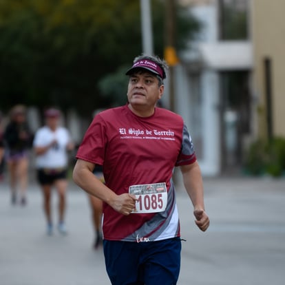
[[[81,145],[78,148],[76,158],[103,165],[105,147],[107,144],[106,127],[100,115],[94,117],[89,125]]]

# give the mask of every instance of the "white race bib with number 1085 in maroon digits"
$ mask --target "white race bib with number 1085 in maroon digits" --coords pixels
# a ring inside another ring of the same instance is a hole
[[[167,207],[167,188],[165,182],[140,184],[129,187],[129,193],[136,196],[136,210],[131,213],[158,213]]]

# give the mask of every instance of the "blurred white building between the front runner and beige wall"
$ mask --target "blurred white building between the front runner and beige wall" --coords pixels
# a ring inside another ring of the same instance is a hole
[[[250,0],[182,3],[203,28],[191,49],[179,54],[175,111],[189,127],[203,175],[217,176],[240,169],[246,140],[253,132]],[[229,30],[231,26],[237,31]]]

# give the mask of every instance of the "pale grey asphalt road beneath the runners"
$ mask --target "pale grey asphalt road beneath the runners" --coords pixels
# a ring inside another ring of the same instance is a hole
[[[187,240],[178,285],[285,284],[284,178],[206,178],[204,189],[206,233],[196,228],[191,202],[178,187]],[[25,207],[12,206],[8,185],[0,182],[1,285],[110,284],[102,249],[92,249],[87,196],[70,182],[67,197],[68,235],[47,236],[39,187],[30,184]],[[55,192],[52,198],[56,220]]]

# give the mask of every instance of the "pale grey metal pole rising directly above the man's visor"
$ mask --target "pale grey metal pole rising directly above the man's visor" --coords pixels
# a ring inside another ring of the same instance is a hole
[[[142,52],[144,54],[154,54],[151,29],[151,11],[149,0],[140,0],[140,17],[142,30]]]

